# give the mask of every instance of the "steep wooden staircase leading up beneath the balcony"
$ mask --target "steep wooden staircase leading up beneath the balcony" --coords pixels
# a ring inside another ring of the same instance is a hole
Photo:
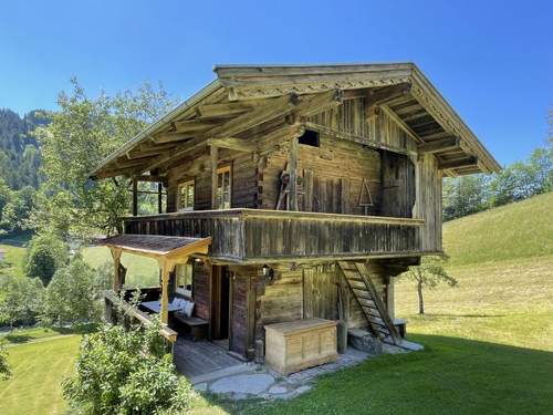
[[[338,266],[359,304],[373,334],[380,341],[401,345],[401,338],[371,281],[369,272],[364,262],[338,261]]]

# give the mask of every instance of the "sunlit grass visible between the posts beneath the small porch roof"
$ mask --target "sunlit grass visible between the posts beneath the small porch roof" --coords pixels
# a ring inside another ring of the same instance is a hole
[[[112,255],[106,247],[88,247],[83,249],[83,258],[91,267],[98,268],[108,263],[113,267]],[[159,286],[159,266],[155,259],[124,252],[121,262],[127,268],[125,284],[128,287]]]

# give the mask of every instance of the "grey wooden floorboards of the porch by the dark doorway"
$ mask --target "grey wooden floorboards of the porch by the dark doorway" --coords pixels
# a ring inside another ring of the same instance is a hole
[[[192,342],[178,338],[175,344],[175,365],[187,377],[230,367],[241,362],[227,353],[227,350],[208,341]]]

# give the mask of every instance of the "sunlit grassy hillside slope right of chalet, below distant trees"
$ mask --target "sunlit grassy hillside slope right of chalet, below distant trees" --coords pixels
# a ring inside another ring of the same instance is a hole
[[[450,266],[553,258],[553,191],[444,225]]]

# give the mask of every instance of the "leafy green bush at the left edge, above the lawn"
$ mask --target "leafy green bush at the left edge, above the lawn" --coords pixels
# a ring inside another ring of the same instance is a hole
[[[2,287],[0,325],[34,324],[43,293],[44,286],[38,278],[9,277]]]

